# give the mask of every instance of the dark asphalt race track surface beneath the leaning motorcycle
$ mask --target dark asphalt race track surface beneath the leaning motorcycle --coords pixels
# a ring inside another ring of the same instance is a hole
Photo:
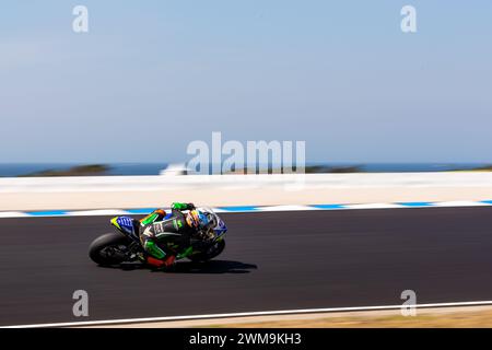
[[[92,262],[107,217],[1,219],[0,325],[492,300],[490,207],[221,217],[226,250],[174,272]]]

